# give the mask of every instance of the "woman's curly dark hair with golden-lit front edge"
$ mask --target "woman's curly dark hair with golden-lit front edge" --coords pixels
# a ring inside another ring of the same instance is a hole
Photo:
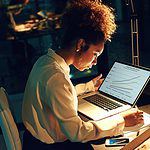
[[[61,18],[61,46],[80,38],[96,44],[111,41],[116,30],[114,10],[98,0],[70,0]]]

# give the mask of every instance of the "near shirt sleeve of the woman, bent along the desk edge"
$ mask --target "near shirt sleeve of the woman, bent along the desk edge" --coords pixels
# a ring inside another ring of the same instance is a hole
[[[78,100],[75,89],[70,81],[65,80],[63,74],[55,74],[48,81],[46,96],[47,103],[66,139],[74,142],[87,142],[120,134],[123,131],[124,120],[121,116],[101,121],[83,121],[77,113]]]

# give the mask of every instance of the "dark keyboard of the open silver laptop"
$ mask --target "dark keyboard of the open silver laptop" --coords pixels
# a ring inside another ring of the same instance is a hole
[[[112,110],[112,109],[116,109],[116,108],[122,106],[122,105],[115,103],[111,100],[108,100],[107,98],[100,96],[98,94],[91,95],[91,96],[85,97],[83,99],[85,99],[86,101],[88,101],[92,104],[95,104],[95,105],[97,105],[97,106],[99,106],[99,107],[101,107],[107,111]]]

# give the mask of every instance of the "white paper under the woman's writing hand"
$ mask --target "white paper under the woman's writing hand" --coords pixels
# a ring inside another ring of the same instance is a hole
[[[139,129],[150,126],[150,114],[147,114],[143,112],[143,118],[144,118],[144,123],[143,124],[138,124],[132,127],[125,127],[124,133],[128,133],[131,131],[139,131]]]

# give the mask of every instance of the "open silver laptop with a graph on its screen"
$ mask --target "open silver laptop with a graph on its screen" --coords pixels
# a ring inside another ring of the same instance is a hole
[[[78,112],[100,120],[136,105],[150,80],[150,69],[116,61],[98,91],[78,96]]]

